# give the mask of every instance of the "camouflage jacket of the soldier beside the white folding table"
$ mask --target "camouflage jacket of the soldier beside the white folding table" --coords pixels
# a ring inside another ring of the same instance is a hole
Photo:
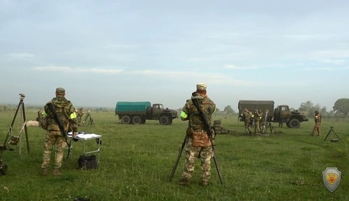
[[[64,124],[66,131],[77,132],[77,122],[76,122],[76,113],[73,103],[66,100],[64,96],[57,96],[52,98],[48,103],[53,103],[54,108],[56,109],[57,115],[61,122]],[[45,115],[47,118],[47,131],[59,131],[59,126],[54,119],[54,114],[51,112],[47,103],[44,107]]]

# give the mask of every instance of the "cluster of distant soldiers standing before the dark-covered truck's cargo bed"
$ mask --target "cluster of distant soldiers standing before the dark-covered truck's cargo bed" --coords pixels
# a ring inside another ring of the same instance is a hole
[[[242,111],[242,119],[245,125],[246,135],[251,135],[251,126],[254,127],[254,134],[262,133],[265,125],[265,115],[263,115],[262,110],[255,110],[253,113],[248,111],[247,108]]]

